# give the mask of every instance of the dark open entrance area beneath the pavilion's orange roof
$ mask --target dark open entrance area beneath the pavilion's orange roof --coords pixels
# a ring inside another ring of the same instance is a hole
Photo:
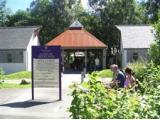
[[[96,70],[95,59],[99,59],[99,68],[103,68],[103,50],[64,50],[64,72],[79,72],[86,68],[87,71]]]

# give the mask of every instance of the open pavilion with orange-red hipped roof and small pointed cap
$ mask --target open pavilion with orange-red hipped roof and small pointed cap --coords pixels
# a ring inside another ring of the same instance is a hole
[[[46,44],[62,47],[62,64],[66,71],[87,71],[94,69],[95,58],[99,58],[101,68],[106,67],[107,46],[87,32],[79,21],[72,23],[68,30]]]

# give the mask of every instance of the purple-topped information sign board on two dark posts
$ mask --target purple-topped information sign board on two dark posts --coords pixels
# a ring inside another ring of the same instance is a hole
[[[32,46],[32,100],[34,88],[59,87],[61,91],[61,47]]]

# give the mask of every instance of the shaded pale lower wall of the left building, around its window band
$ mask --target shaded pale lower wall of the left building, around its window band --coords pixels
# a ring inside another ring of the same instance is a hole
[[[23,51],[23,63],[0,63],[0,67],[3,68],[5,74],[14,73],[26,70],[26,51]]]

